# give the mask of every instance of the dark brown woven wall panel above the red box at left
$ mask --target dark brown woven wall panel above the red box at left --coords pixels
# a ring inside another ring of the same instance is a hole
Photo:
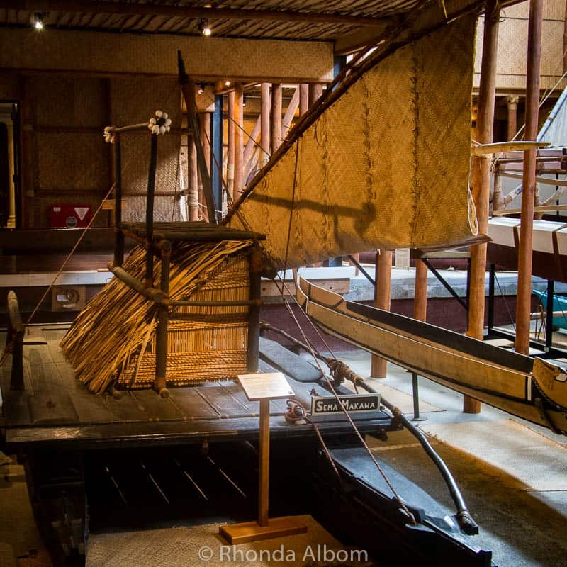
[[[108,159],[98,133],[36,133],[40,191],[108,191]]]

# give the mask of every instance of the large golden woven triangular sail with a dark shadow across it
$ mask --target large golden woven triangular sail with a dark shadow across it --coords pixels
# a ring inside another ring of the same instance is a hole
[[[232,226],[266,233],[276,267],[471,237],[474,29],[463,18],[367,72],[266,174]]]

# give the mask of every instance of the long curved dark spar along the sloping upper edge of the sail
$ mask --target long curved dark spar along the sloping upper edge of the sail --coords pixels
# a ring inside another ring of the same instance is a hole
[[[478,1],[478,3],[475,3],[473,6],[466,6],[464,9],[451,14],[451,18],[453,20],[456,20],[458,18],[461,18],[462,16],[465,16],[466,14],[476,12],[478,11],[481,4],[483,3],[481,1]],[[317,120],[319,116],[327,108],[329,108],[329,106],[332,105],[332,103],[337,101],[337,99],[339,99],[345,92],[347,92],[347,90],[355,82],[357,82],[360,77],[364,75],[364,73],[366,73],[369,69],[372,69],[372,67],[376,66],[376,64],[378,64],[379,62],[385,60],[386,57],[389,57],[404,45],[408,45],[413,41],[425,37],[425,35],[434,33],[435,31],[443,28],[446,25],[447,23],[445,20],[436,21],[435,23],[428,25],[426,28],[420,28],[419,30],[416,30],[415,33],[413,33],[411,36],[400,39],[400,30],[403,28],[403,22],[401,22],[400,26],[396,27],[395,30],[392,30],[391,33],[384,39],[385,45],[382,49],[376,50],[369,57],[366,57],[364,61],[360,62],[356,67],[344,67],[344,69],[342,69],[341,71],[342,77],[344,77],[342,82],[340,82],[340,84],[337,84],[334,89],[326,89],[322,94],[321,99],[318,101],[318,104],[315,107],[310,108],[301,117],[294,128],[289,131],[288,137],[281,144],[276,154],[271,156],[269,163],[266,164],[266,166],[258,172],[254,179],[252,179],[246,190],[242,193],[242,196],[235,203],[235,206],[233,206],[225,216],[225,218],[223,219],[223,224],[230,223],[230,220],[232,220],[232,215],[235,214],[236,210],[240,207],[240,204],[245,201],[247,196],[249,196],[249,194],[254,191],[259,182],[262,181],[262,179],[264,179],[264,177],[271,171],[271,168],[274,167],[274,165],[279,161],[279,157],[285,154],[289,150],[289,148],[292,147],[293,144],[295,144],[296,140],[298,140],[298,138],[303,135],[305,130],[307,130],[310,125],[315,123],[315,120]]]

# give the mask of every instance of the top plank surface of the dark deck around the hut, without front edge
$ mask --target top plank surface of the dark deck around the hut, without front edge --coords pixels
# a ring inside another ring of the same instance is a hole
[[[151,390],[123,392],[120,400],[95,395],[80,383],[59,347],[64,327],[33,326],[24,345],[25,391],[9,388],[11,355],[0,366],[4,427],[77,427],[137,422],[185,422],[238,420],[259,415],[257,402],[249,402],[240,386],[231,381],[215,381],[201,386],[171,388],[169,398],[159,398]],[[290,353],[291,357],[294,355]],[[274,371],[262,361],[262,371]],[[315,383],[300,383],[288,377],[295,398],[308,407]],[[285,400],[271,403],[271,415],[286,411]]]

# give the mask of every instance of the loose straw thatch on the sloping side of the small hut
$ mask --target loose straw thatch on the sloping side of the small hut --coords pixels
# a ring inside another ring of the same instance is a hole
[[[174,301],[190,298],[215,272],[223,269],[226,260],[250,244],[250,241],[225,240],[175,245],[169,274],[169,297]],[[145,249],[135,247],[123,267],[143,281]],[[157,260],[154,266],[156,288],[159,287],[160,271],[161,262]],[[103,393],[133,357],[137,357],[156,327],[155,303],[115,277],[79,313],[61,347],[77,377],[91,391]]]

